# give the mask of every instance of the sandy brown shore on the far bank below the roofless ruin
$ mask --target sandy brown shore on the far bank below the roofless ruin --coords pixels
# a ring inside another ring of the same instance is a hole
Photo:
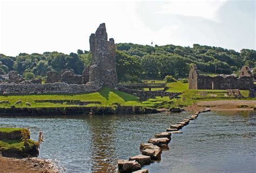
[[[234,111],[253,111],[256,107],[256,100],[210,100],[200,101],[197,104],[186,107],[187,111],[198,111],[203,108],[210,108],[213,111],[234,110]]]

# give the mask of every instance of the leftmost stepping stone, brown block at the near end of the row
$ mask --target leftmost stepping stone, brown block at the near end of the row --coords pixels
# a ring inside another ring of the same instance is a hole
[[[118,170],[121,172],[132,172],[142,169],[136,161],[127,161],[123,159],[117,160]]]

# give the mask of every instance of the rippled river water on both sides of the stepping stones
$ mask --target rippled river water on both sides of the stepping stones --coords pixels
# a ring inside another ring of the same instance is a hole
[[[116,172],[118,158],[139,154],[140,142],[164,132],[183,113],[105,116],[0,117],[0,127],[29,127],[32,139],[43,131],[41,158],[66,172]],[[205,112],[173,134],[161,161],[150,172],[256,172],[255,112]]]

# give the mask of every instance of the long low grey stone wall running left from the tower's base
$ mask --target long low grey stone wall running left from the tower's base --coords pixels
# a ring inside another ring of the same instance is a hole
[[[0,93],[9,94],[41,94],[41,93],[83,93],[98,91],[94,85],[79,85],[67,83],[46,83],[46,84],[0,84]]]

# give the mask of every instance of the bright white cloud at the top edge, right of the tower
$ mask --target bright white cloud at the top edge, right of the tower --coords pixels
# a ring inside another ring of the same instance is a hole
[[[227,0],[170,0],[159,13],[203,17],[218,21],[217,11]]]

